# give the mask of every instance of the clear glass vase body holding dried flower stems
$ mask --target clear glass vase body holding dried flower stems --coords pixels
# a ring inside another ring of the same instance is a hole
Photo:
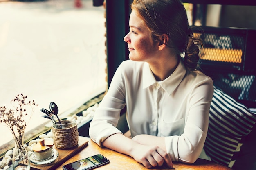
[[[13,170],[30,170],[29,154],[24,145],[24,134],[14,135],[15,147],[13,148]]]

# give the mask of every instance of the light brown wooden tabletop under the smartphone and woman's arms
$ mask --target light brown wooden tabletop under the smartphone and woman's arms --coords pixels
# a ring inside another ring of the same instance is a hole
[[[88,143],[87,143],[88,142]],[[141,163],[135,161],[132,157],[117,153],[108,148],[101,148],[95,144],[88,137],[79,136],[79,145],[70,150],[57,149],[59,152],[59,158],[53,163],[47,164],[47,166],[34,166],[31,165],[31,170],[63,170],[62,166],[74,161],[90,157],[101,153],[103,156],[110,160],[110,163],[97,168],[97,170],[146,170]],[[71,156],[70,156],[71,155]],[[162,167],[157,167],[150,170],[163,170]],[[166,169],[166,168],[165,168]],[[176,170],[231,170],[226,166],[222,166],[212,161],[204,159],[198,159],[193,164],[184,164],[179,162],[173,162],[173,169]]]

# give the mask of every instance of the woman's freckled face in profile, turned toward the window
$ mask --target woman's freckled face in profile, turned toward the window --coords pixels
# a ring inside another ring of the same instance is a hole
[[[150,31],[136,11],[130,14],[129,26],[130,32],[124,37],[130,51],[129,58],[134,61],[150,61],[156,58],[154,56],[158,49],[157,43],[151,40]]]

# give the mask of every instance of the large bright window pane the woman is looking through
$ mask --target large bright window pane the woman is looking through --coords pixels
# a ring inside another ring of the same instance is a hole
[[[48,121],[41,108],[59,114],[107,88],[105,9],[92,0],[0,2],[0,106],[22,93],[38,104],[26,131]],[[12,139],[0,124],[0,146]]]

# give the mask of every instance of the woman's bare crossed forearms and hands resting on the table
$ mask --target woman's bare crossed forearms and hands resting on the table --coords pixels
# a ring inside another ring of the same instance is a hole
[[[146,143],[146,140],[149,139],[151,142]],[[166,150],[164,150],[164,137],[137,135],[129,139],[121,133],[116,133],[105,139],[101,144],[119,153],[130,155],[146,168],[162,166],[163,164],[173,168],[173,162]]]

